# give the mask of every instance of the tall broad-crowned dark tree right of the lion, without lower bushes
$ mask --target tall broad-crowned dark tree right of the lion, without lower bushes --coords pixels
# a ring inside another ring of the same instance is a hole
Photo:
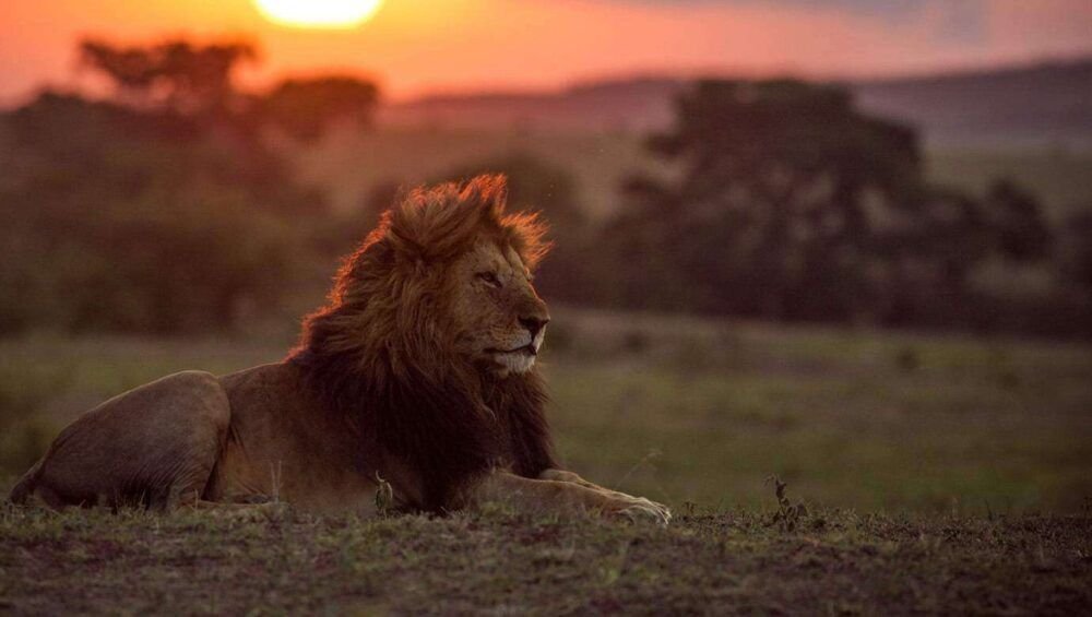
[[[873,210],[917,189],[914,132],[863,115],[841,88],[796,81],[703,81],[677,110],[649,145],[679,179],[632,179],[610,228],[618,242],[639,238],[633,254],[660,278],[638,294],[644,304],[786,319],[857,311]]]

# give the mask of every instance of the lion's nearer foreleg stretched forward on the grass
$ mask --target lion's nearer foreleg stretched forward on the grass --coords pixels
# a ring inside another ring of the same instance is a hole
[[[500,471],[475,483],[466,498],[471,507],[502,503],[530,513],[600,513],[613,518],[651,520],[660,524],[666,524],[669,519],[669,514],[651,502],[622,499],[569,482],[532,479]]]

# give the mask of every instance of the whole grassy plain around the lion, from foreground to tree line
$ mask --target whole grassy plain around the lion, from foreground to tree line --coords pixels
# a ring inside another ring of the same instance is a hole
[[[666,529],[503,509],[313,518],[0,506],[0,613],[1077,614],[1092,607],[1092,348],[556,308],[557,448]],[[56,432],[228,339],[0,342],[10,486]]]

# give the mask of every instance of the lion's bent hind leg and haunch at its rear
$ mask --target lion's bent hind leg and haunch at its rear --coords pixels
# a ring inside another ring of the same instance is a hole
[[[171,375],[85,413],[12,491],[52,508],[169,510],[204,493],[227,436],[230,404],[206,372]]]

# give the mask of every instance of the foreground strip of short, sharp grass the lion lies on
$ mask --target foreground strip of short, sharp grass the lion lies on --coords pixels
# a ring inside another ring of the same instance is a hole
[[[0,613],[1037,614],[1092,605],[1092,518],[506,512],[256,522],[0,507]]]

